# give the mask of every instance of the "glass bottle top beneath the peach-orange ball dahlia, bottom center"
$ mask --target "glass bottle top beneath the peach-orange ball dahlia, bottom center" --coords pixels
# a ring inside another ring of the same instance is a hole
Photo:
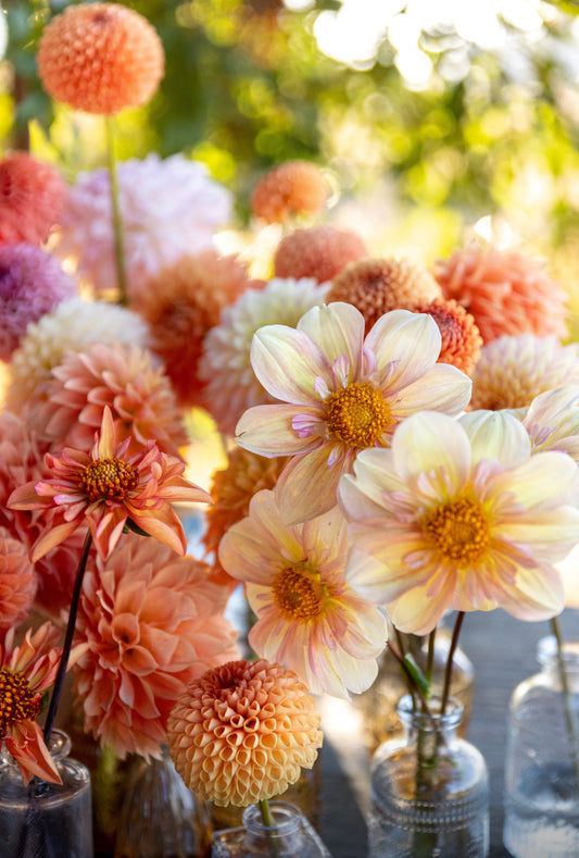
[[[273,825],[263,821],[260,808],[243,811],[243,824],[213,834],[212,858],[331,858],[303,813],[286,801],[270,801]]]

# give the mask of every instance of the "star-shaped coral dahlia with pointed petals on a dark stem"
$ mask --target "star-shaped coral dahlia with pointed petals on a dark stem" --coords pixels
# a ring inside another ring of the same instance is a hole
[[[12,509],[55,510],[52,526],[33,545],[33,562],[86,524],[103,558],[125,526],[135,526],[185,555],[185,533],[171,502],[211,502],[211,496],[185,480],[185,464],[161,452],[153,440],[127,457],[129,443],[127,438],[116,444],[111,409],[105,407],[90,455],[72,447],[60,456],[48,452],[45,461],[54,476],[12,493],[8,501]]]

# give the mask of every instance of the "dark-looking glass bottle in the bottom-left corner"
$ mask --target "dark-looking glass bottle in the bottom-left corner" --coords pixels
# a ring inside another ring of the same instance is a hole
[[[24,786],[11,755],[0,751],[2,858],[90,858],[92,818],[88,769],[68,757],[71,739],[53,730],[49,742],[61,784],[33,778]]]

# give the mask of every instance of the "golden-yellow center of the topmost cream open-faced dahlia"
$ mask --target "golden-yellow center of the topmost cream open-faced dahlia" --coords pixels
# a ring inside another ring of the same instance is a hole
[[[394,422],[381,390],[369,384],[349,384],[326,402],[328,432],[349,447],[373,447]]]

